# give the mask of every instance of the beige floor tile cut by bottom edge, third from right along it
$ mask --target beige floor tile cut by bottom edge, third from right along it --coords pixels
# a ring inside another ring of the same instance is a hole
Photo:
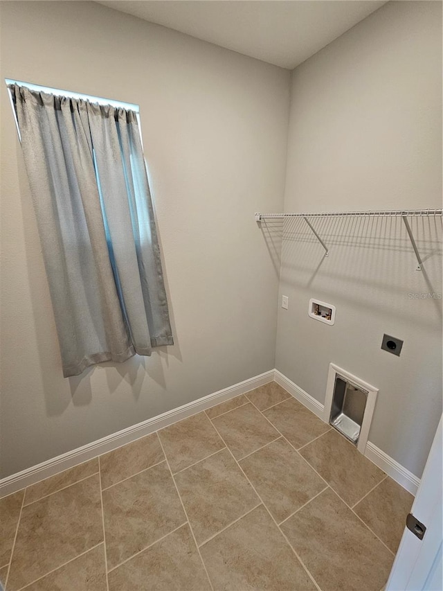
[[[188,524],[109,573],[109,591],[209,591]]]

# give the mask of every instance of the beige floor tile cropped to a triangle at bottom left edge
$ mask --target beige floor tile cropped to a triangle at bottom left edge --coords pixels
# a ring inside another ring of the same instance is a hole
[[[26,591],[107,591],[103,544],[47,574]]]

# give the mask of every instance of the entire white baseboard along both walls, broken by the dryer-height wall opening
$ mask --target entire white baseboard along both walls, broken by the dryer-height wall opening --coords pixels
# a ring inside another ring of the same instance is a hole
[[[310,394],[307,394],[305,390],[294,384],[294,382],[289,380],[289,378],[284,376],[280,371],[273,369],[261,373],[254,378],[244,380],[243,382],[239,382],[238,384],[214,392],[213,394],[208,394],[208,396],[204,396],[198,400],[193,400],[186,405],[174,408],[168,412],[154,416],[153,418],[148,418],[147,421],[127,427],[117,433],[98,439],[98,441],[88,443],[86,446],[82,446],[71,452],[66,452],[53,459],[44,461],[42,464],[37,464],[37,466],[26,468],[26,470],[22,470],[17,474],[3,478],[0,480],[0,497],[15,493],[16,491],[21,490],[21,488],[25,488],[26,486],[30,486],[30,484],[35,484],[40,480],[63,472],[63,470],[68,470],[68,468],[82,464],[84,461],[92,459],[93,457],[97,457],[98,455],[125,446],[127,443],[131,443],[131,441],[136,441],[136,439],[140,439],[140,437],[163,429],[163,427],[168,427],[168,425],[172,425],[172,423],[177,423],[177,421],[181,421],[183,418],[187,418],[192,414],[197,414],[197,412],[201,412],[202,410],[225,402],[225,400],[235,398],[235,396],[239,396],[240,394],[246,394],[246,392],[262,386],[267,382],[271,382],[272,380],[275,380],[275,382],[280,384],[280,386],[287,390],[291,396],[316,414],[318,418],[321,418],[322,421],[324,420],[323,404],[319,403],[318,400]],[[365,457],[381,468],[383,472],[386,472],[386,474],[395,480],[395,482],[398,482],[398,484],[406,488],[407,491],[415,495],[420,482],[419,478],[410,473],[409,470],[404,468],[404,466],[401,466],[401,464],[395,461],[395,459],[392,459],[392,457],[377,448],[377,446],[374,446],[374,443],[371,443],[370,441],[368,441],[365,448]]]

